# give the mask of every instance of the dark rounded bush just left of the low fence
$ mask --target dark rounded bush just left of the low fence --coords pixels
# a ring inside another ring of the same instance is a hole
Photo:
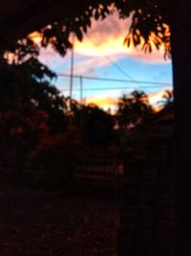
[[[62,135],[48,136],[30,156],[34,185],[69,189],[80,147],[81,140],[74,128]]]

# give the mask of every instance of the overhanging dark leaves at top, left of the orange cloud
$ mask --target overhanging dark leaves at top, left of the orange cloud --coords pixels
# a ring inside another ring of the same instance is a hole
[[[43,28],[39,33],[42,35],[41,46],[47,47],[49,44],[61,56],[65,56],[67,49],[73,47],[72,35],[82,41],[83,34],[87,33],[91,27],[91,18],[105,18],[112,13],[108,4],[111,1],[84,2],[77,7],[77,12],[70,13],[53,24]]]

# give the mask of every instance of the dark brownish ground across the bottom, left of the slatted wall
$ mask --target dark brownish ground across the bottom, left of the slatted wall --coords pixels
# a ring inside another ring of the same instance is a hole
[[[0,187],[0,256],[117,256],[119,205]]]

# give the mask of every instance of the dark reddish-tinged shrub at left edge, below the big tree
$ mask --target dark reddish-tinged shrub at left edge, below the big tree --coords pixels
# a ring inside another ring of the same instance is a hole
[[[1,166],[10,170],[9,182],[26,183],[27,158],[36,144],[48,134],[46,121],[44,111],[32,111],[27,115],[15,111],[0,113]]]

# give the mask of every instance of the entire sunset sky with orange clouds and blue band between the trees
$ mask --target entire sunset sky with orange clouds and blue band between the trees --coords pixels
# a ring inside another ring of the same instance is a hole
[[[164,60],[162,47],[160,51],[144,54],[140,49],[124,46],[123,41],[129,24],[128,19],[118,20],[117,15],[109,16],[104,21],[93,21],[92,28],[82,43],[74,40],[74,75],[132,81],[83,79],[83,98],[86,103],[93,102],[104,109],[115,109],[118,97],[134,89],[142,89],[150,94],[151,102],[154,103],[159,101],[164,89],[171,88],[167,85],[159,87],[156,84],[134,82],[157,81],[172,84],[172,65],[170,60]],[[56,73],[70,75],[70,51],[65,58],[60,58],[51,48],[43,49],[40,59]],[[69,95],[69,78],[58,77],[53,83],[64,95]],[[74,79],[73,98],[76,100],[80,98],[79,87],[80,80]]]

